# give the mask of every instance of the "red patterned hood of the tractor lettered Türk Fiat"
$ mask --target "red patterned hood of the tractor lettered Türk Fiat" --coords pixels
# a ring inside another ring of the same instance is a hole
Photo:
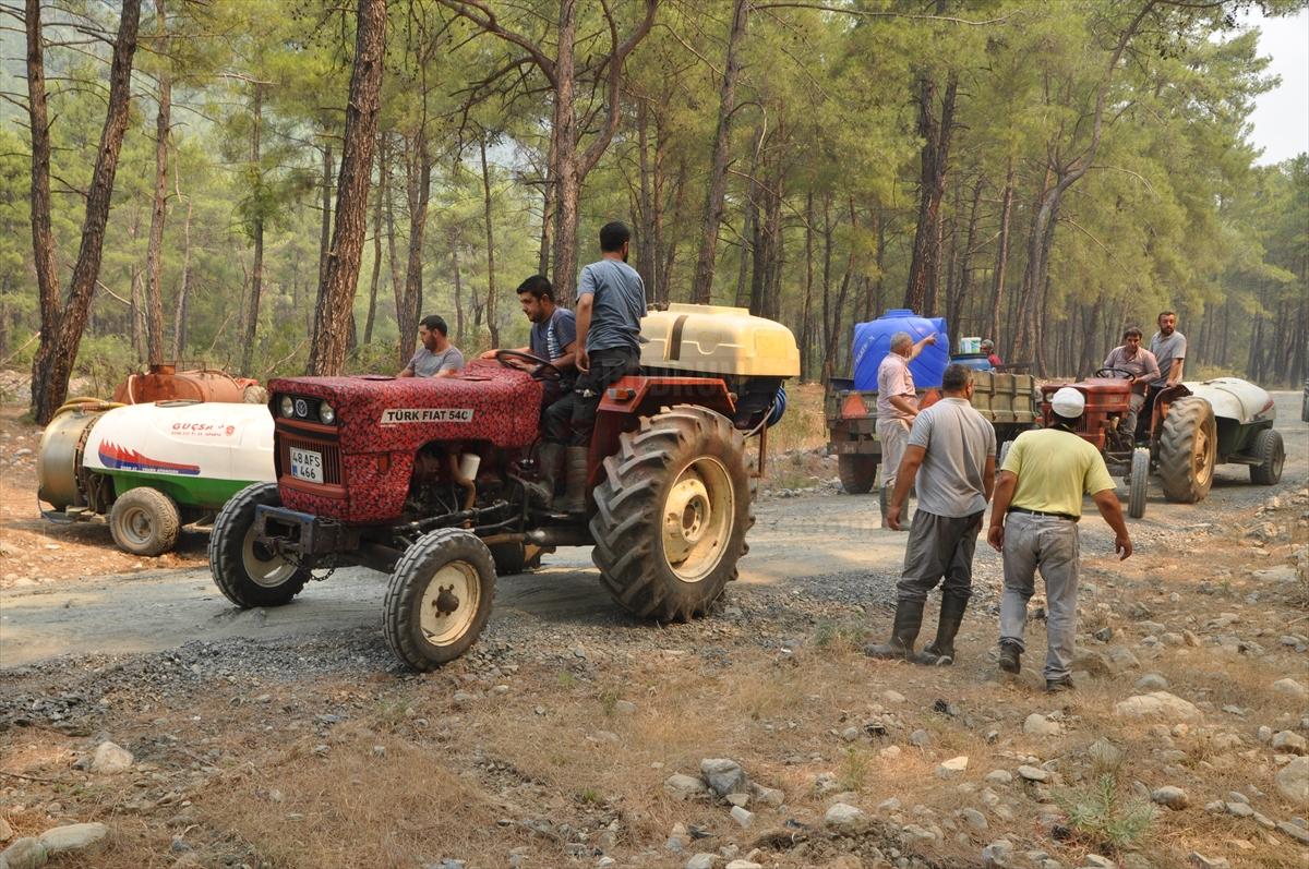
[[[541,383],[499,363],[474,361],[454,377],[292,377],[268,383],[276,419],[319,423],[326,402],[347,452],[415,449],[433,440],[501,448],[537,437]],[[292,416],[281,410],[292,398]],[[360,448],[365,449],[360,449]]]

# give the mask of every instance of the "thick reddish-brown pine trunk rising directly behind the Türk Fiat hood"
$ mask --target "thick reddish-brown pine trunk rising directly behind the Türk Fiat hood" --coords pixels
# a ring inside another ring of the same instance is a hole
[[[336,181],[336,225],[326,280],[318,289],[318,340],[309,349],[309,373],[339,374],[359,285],[359,264],[368,225],[368,185],[381,109],[382,60],[386,48],[386,0],[359,0],[355,69],[350,79],[346,137]]]

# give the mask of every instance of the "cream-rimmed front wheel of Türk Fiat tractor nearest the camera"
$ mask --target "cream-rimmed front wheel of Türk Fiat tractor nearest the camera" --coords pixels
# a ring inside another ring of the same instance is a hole
[[[486,543],[462,529],[424,534],[386,586],[386,644],[407,666],[435,670],[476,643],[493,599],[495,564]]]

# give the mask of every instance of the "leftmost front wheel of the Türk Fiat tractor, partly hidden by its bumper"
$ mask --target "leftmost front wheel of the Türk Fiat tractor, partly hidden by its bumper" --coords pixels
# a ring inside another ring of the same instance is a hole
[[[209,573],[223,594],[247,610],[291,603],[309,571],[254,539],[255,508],[280,506],[276,483],[247,486],[223,506],[209,535]]]

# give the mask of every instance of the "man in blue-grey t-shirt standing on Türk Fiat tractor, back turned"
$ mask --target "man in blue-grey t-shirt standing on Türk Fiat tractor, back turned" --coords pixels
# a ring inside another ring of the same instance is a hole
[[[564,510],[586,509],[586,452],[605,389],[640,370],[645,284],[627,264],[631,232],[613,221],[600,230],[600,260],[577,280],[577,382],[573,385],[572,437],[568,445],[568,493]]]

